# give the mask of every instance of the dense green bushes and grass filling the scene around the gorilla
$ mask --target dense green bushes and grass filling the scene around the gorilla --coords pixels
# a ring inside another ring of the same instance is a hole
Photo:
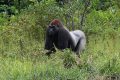
[[[47,25],[81,29],[86,50],[45,55]],[[1,0],[0,80],[119,80],[119,0]]]

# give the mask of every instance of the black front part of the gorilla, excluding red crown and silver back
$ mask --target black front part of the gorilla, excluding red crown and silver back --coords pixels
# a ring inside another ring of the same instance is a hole
[[[47,55],[50,55],[57,49],[63,50],[65,48],[71,48],[75,51],[73,39],[68,30],[64,27],[49,26],[46,31],[45,49],[50,50]]]

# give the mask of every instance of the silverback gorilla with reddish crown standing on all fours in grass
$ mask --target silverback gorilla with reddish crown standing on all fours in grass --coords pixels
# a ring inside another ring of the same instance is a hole
[[[64,28],[60,20],[54,19],[46,31],[45,49],[49,50],[46,54],[56,52],[57,49],[63,50],[71,48],[78,56],[85,48],[86,37],[81,30],[69,31]]]

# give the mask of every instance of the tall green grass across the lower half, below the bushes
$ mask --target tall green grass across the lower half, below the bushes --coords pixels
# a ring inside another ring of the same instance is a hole
[[[0,37],[0,80],[117,80],[120,76],[119,36],[89,36],[80,64],[69,49],[48,58],[43,43],[24,37],[20,43],[19,36],[14,38],[13,34]]]

